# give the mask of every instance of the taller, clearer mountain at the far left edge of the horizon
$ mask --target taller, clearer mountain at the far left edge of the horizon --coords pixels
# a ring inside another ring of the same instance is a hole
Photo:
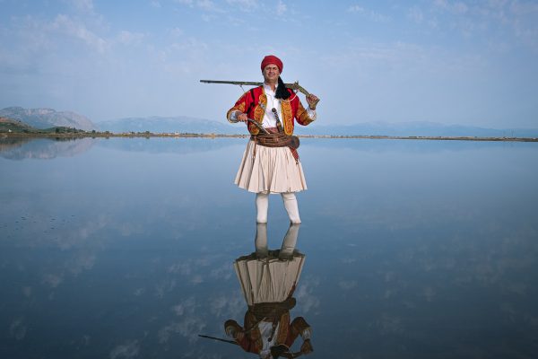
[[[8,107],[0,109],[0,117],[18,119],[36,128],[75,127],[83,130],[97,129],[89,118],[70,111],[55,109],[23,109]]]

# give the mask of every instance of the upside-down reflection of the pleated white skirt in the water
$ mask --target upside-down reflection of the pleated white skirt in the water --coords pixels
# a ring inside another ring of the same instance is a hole
[[[290,260],[245,258],[233,264],[248,305],[283,302],[299,282],[305,263],[303,255]]]

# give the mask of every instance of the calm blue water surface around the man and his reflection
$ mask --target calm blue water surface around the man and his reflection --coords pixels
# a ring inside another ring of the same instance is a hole
[[[0,357],[256,357],[198,337],[247,311],[245,142],[0,140]],[[303,139],[299,154],[305,357],[536,357],[537,144]],[[287,230],[273,196],[269,249]]]

